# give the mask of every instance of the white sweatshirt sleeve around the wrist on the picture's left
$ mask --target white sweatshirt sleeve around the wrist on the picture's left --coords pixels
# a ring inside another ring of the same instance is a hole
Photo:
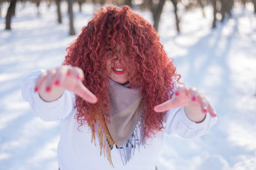
[[[21,82],[22,97],[29,105],[33,112],[44,121],[56,121],[65,119],[74,109],[74,93],[65,90],[63,95],[52,102],[45,102],[35,93],[35,82],[38,76],[45,70],[36,70],[29,74]]]

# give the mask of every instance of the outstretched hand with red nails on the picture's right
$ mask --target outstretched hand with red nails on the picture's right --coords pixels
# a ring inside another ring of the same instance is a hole
[[[209,112],[212,117],[216,117],[214,109],[204,95],[199,93],[196,88],[187,89],[185,86],[178,86],[174,91],[172,99],[156,105],[156,107],[154,107],[154,111],[164,112],[175,107],[184,107],[187,105],[200,107],[202,113],[206,114]]]

